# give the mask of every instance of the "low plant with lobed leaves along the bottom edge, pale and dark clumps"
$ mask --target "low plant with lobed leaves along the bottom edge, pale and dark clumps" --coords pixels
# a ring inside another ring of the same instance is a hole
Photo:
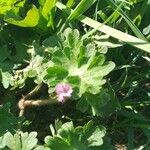
[[[52,126],[51,130],[55,132]],[[53,136],[45,137],[44,146],[37,145],[37,132],[17,132],[14,135],[7,132],[3,137],[0,137],[0,148],[5,149],[7,147],[11,150],[93,149],[103,144],[106,129],[103,126],[94,127],[93,122],[88,122],[83,127],[74,128],[72,122],[67,122],[57,128],[56,132],[56,135],[53,133]]]

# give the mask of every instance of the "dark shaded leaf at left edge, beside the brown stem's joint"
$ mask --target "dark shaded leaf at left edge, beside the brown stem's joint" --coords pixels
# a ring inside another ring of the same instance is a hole
[[[9,108],[10,104],[0,106],[0,136],[2,136],[6,131],[14,131],[18,122],[22,120],[10,113]]]

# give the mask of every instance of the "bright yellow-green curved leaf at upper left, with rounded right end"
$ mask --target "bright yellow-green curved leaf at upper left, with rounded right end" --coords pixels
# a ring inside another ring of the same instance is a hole
[[[33,6],[28,12],[24,19],[16,20],[16,18],[11,18],[9,14],[5,16],[4,20],[8,23],[20,26],[20,27],[35,27],[39,21],[38,9]]]

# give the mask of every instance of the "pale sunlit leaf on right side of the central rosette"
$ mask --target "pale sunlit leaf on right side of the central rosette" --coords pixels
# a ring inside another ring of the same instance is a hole
[[[111,72],[114,67],[115,64],[113,62],[109,62],[104,66],[96,66],[87,70],[85,70],[85,68],[87,68],[86,65],[80,68],[80,71],[82,72],[80,75],[80,94],[82,95],[85,92],[92,94],[99,93],[101,86],[106,82],[103,77]]]

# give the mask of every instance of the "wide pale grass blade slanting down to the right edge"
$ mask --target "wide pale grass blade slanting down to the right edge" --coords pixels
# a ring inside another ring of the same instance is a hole
[[[66,9],[66,6],[60,2],[57,2],[56,6],[61,10]],[[78,20],[94,29],[97,29],[100,32],[103,32],[103,33],[110,35],[118,40],[121,40],[122,42],[125,42],[131,46],[134,46],[136,48],[139,48],[143,51],[150,53],[150,43],[147,41],[144,41],[142,39],[139,39],[139,38],[129,35],[127,33],[121,32],[117,29],[114,29],[112,27],[104,25],[98,21],[95,21],[95,20],[93,20],[89,17],[83,16],[83,15],[81,15],[78,18]]]

